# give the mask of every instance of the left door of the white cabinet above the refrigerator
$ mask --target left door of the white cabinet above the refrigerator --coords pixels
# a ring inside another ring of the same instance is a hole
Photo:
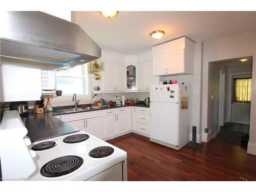
[[[166,58],[165,54],[153,56],[153,75],[166,74]]]

